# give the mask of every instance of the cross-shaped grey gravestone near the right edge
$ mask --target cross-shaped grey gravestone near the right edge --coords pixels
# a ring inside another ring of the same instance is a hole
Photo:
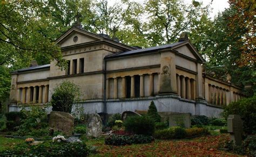
[[[227,132],[235,145],[242,144],[242,120],[239,115],[229,115],[227,119]]]

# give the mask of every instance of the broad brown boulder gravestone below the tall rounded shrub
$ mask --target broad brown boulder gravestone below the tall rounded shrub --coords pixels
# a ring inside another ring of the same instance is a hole
[[[52,111],[49,117],[49,126],[55,131],[72,135],[74,130],[74,118],[66,112]]]

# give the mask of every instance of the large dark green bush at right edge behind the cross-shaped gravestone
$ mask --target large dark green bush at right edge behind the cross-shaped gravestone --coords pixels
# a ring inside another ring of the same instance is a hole
[[[240,115],[245,133],[256,133],[256,95],[228,104],[223,113],[225,119],[228,115]]]

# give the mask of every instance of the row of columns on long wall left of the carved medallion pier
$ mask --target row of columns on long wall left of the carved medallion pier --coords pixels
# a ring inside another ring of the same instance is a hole
[[[144,97],[145,96],[145,87],[144,87],[144,77],[146,75],[149,75],[149,96],[153,96],[154,95],[154,75],[158,75],[156,73],[149,73],[149,74],[139,74],[139,97]],[[131,89],[130,89],[130,93],[131,93],[131,98],[136,97],[135,95],[135,76],[136,75],[129,75],[131,77]],[[159,75],[158,75],[159,76]],[[122,78],[122,91],[118,93],[118,78]],[[106,98],[126,98],[127,97],[127,87],[126,87],[126,76],[119,76],[119,77],[111,77],[111,78],[107,78],[106,79]],[[113,96],[110,97],[110,80],[113,79]],[[137,84],[138,85],[138,84]],[[159,85],[158,85],[159,86]],[[159,89],[158,89],[159,90]],[[121,94],[121,96],[119,96],[119,94]]]

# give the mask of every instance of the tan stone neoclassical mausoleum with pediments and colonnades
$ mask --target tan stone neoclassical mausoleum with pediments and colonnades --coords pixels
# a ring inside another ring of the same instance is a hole
[[[55,61],[11,73],[10,111],[20,104],[44,104],[64,80],[80,85],[86,113],[147,110],[217,117],[224,105],[242,97],[240,89],[203,73],[205,60],[186,38],[139,48],[104,34],[72,27],[56,40],[68,68]]]

